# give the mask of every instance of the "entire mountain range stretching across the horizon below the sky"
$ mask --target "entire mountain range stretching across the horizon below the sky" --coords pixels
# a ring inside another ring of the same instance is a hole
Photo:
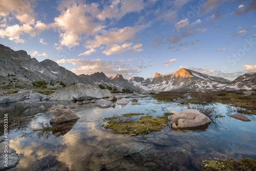
[[[26,51],[14,51],[0,44],[0,84],[10,84],[10,79],[30,83],[45,80],[55,83],[62,81],[66,84],[84,83],[92,86],[102,84],[105,87],[134,91],[214,90],[225,87],[251,90],[256,88],[256,73],[246,73],[233,81],[184,68],[168,75],[156,73],[154,78],[147,79],[133,77],[127,80],[119,74],[109,78],[103,72],[76,75],[50,59],[38,62]]]

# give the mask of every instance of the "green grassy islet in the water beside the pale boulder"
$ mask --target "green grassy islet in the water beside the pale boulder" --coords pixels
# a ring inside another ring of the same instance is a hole
[[[152,116],[142,116],[139,121],[120,121],[120,117],[116,120],[112,118],[105,129],[113,130],[114,134],[149,134],[150,132],[160,131],[168,125],[167,116],[159,116],[152,118]]]

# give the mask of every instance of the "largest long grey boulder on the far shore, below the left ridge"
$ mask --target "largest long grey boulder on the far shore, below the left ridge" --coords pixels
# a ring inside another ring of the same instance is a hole
[[[108,93],[109,92],[109,93]],[[101,90],[88,84],[78,83],[55,92],[53,100],[91,100],[111,97],[109,90]]]

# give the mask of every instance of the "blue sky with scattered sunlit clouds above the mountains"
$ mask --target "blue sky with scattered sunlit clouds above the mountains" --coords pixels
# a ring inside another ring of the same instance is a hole
[[[75,74],[256,71],[254,0],[0,0],[0,44]]]

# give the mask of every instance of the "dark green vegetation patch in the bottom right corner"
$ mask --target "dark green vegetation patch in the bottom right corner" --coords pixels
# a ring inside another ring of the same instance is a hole
[[[228,160],[209,160],[203,161],[204,170],[207,171],[253,171],[256,170],[256,162],[250,159],[242,159],[241,161],[229,158]]]

